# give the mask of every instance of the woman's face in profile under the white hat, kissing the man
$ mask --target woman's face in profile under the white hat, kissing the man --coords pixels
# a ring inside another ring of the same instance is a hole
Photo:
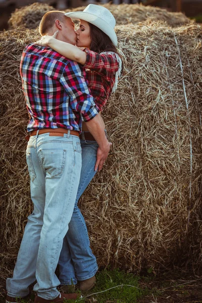
[[[88,22],[80,20],[79,29],[76,31],[77,34],[77,42],[76,45],[78,47],[90,47],[91,39],[90,39],[90,26]]]

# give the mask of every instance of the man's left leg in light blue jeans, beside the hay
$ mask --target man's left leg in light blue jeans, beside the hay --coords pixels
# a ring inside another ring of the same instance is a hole
[[[29,285],[36,280],[36,259],[45,206],[45,172],[36,157],[35,137],[31,137],[28,142],[26,160],[34,208],[27,220],[13,278],[7,279],[8,295],[14,298],[26,296],[29,293]]]

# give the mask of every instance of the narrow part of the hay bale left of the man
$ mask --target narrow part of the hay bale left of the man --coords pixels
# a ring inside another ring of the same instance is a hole
[[[29,178],[24,161],[26,149],[24,136],[28,117],[25,110],[19,63],[24,47],[38,37],[38,30],[23,28],[0,33],[2,51],[0,54],[0,113],[1,135],[3,134],[0,144],[2,175],[0,178],[2,223],[0,296],[3,297],[6,291],[6,278],[12,275],[26,217],[32,211]],[[12,133],[9,134],[10,131]],[[3,146],[7,146],[7,148]],[[16,171],[15,174],[14,171]],[[9,192],[13,193],[10,195]]]

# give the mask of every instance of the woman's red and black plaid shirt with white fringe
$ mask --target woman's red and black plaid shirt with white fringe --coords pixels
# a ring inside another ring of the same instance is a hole
[[[107,52],[97,54],[85,48],[87,53],[85,65],[90,92],[100,111],[106,105],[115,84],[115,74],[119,69],[116,57]]]

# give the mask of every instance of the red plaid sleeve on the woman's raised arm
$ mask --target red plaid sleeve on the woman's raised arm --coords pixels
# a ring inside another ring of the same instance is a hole
[[[119,62],[116,59],[115,53],[102,53],[98,54],[90,49],[85,48],[84,52],[87,53],[86,62],[83,65],[85,69],[96,71],[105,75],[106,77],[112,77],[119,69]]]

